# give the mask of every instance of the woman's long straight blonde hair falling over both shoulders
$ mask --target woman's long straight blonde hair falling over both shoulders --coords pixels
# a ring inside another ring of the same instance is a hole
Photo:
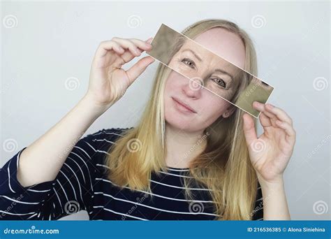
[[[253,43],[237,24],[227,20],[202,20],[184,29],[182,34],[193,39],[214,27],[222,27],[240,36],[246,51],[244,70],[256,75]],[[170,71],[170,68],[159,64],[152,94],[138,126],[128,129],[108,150],[107,175],[109,180],[120,187],[151,191],[149,180],[152,173],[167,170],[164,160],[166,145],[163,91]],[[238,93],[247,85],[247,79],[243,79]],[[219,117],[205,129],[208,135],[207,145],[190,163],[193,179],[185,178],[184,182],[186,187],[200,184],[211,189],[215,214],[220,215],[216,219],[249,220],[252,217],[258,180],[249,160],[242,114],[242,110],[236,108],[230,117]],[[133,144],[138,145],[138,150],[130,150]],[[192,196],[189,189],[186,189],[186,196]]]

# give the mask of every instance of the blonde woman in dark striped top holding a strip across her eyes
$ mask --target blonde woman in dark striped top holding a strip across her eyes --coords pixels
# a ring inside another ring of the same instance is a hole
[[[236,24],[203,20],[183,34],[256,75],[253,44]],[[144,57],[122,69],[151,50],[151,41],[112,38],[98,46],[87,94],[3,166],[1,218],[59,219],[82,209],[90,219],[290,219],[283,173],[295,131],[270,104],[253,105],[264,130],[257,138],[250,115],[160,64],[138,126],[80,139],[152,64]],[[169,64],[197,67],[182,59],[180,44]],[[203,78],[214,66],[199,68]],[[224,83],[215,78],[205,87]]]

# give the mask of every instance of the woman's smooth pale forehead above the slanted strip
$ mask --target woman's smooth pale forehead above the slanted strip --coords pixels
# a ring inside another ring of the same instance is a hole
[[[214,52],[216,55],[232,62],[233,64],[244,68],[245,62],[245,48],[244,43],[239,36],[221,27],[214,27],[193,39],[196,43],[203,45],[209,51]],[[208,54],[205,48],[201,47],[193,41],[186,41],[182,47],[196,50],[201,54]]]

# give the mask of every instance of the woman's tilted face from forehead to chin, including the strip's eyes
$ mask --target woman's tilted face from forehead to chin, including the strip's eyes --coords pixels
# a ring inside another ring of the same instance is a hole
[[[235,106],[224,99],[230,101],[239,82],[231,79],[230,75],[235,75],[237,67],[228,64],[228,61],[240,68],[244,68],[245,61],[241,39],[226,29],[209,29],[194,38],[194,41],[216,55],[186,41],[168,64],[175,71],[170,73],[165,82],[164,92],[165,121],[189,132],[201,131],[221,115],[229,117],[233,113]],[[200,87],[200,84],[207,89]]]

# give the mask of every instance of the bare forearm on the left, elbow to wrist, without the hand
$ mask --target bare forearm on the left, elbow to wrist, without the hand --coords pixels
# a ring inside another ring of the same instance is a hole
[[[22,151],[17,180],[23,187],[54,180],[73,146],[101,115],[101,108],[92,102],[88,95],[84,96],[57,124]]]

